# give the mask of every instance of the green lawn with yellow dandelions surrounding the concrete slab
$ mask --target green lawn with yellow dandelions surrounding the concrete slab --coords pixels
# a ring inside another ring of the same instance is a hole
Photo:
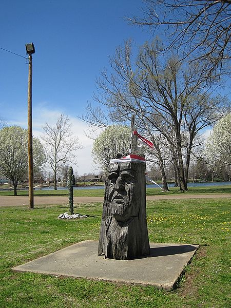
[[[67,208],[0,208],[0,307],[230,307],[231,200],[147,202],[150,242],[199,244],[175,291],[86,279],[16,273],[11,267],[82,240],[98,240],[102,205],[79,204],[82,220],[59,220]],[[97,253],[97,252],[95,252]],[[123,262],[123,261],[121,261]]]

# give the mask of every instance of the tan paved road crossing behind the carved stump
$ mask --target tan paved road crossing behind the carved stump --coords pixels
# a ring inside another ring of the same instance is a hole
[[[147,200],[171,200],[171,199],[202,199],[202,198],[230,198],[231,194],[194,194],[194,195],[162,195],[147,196]],[[103,197],[74,197],[74,203],[103,202]],[[34,205],[68,204],[68,197],[34,197]],[[24,196],[0,196],[0,207],[29,205],[28,197]]]

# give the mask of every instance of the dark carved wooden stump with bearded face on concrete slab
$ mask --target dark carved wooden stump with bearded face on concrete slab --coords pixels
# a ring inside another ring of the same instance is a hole
[[[98,255],[119,260],[149,255],[145,182],[145,163],[110,164]]]

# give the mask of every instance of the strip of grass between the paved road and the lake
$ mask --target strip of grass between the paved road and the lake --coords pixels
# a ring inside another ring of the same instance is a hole
[[[74,189],[74,197],[103,197],[104,189]],[[182,192],[179,187],[171,187],[170,191],[162,192],[160,188],[147,188],[146,194],[171,195],[171,194],[231,194],[231,185],[189,187]],[[13,191],[0,191],[0,196],[13,196]],[[28,190],[18,190],[18,196],[28,196]],[[34,196],[67,196],[68,190],[34,190]]]

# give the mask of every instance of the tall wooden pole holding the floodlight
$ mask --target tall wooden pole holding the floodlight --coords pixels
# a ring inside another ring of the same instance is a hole
[[[28,186],[29,186],[29,207],[34,208],[33,134],[32,134],[32,54],[29,54],[29,74],[28,74]]]

